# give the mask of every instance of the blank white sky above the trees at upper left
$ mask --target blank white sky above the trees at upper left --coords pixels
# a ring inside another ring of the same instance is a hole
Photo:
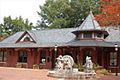
[[[4,16],[11,16],[13,19],[19,16],[32,22],[34,25],[40,17],[39,5],[45,0],[0,0],[0,23],[3,23]]]

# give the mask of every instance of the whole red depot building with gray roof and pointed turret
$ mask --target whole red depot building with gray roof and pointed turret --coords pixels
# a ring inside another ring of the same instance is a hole
[[[52,69],[58,55],[70,55],[75,63],[93,63],[120,71],[120,34],[116,28],[101,29],[92,13],[77,28],[21,31],[0,42],[0,66]]]

